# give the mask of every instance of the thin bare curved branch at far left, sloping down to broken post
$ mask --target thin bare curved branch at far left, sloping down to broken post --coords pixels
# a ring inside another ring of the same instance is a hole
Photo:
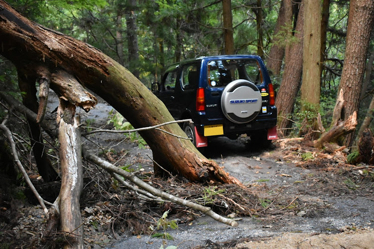
[[[21,164],[21,161],[19,160],[18,158],[18,154],[17,154],[17,150],[15,149],[15,142],[13,140],[13,137],[12,137],[12,134],[11,134],[11,131],[8,129],[8,127],[6,127],[6,122],[8,120],[8,117],[6,117],[2,123],[0,124],[0,127],[1,129],[6,133],[6,137],[10,143],[10,148],[11,148],[11,151],[12,151],[12,154],[13,154],[13,158],[14,158],[14,162],[17,164],[18,166],[18,169],[19,171],[22,173],[22,176],[25,180],[25,182],[27,183],[28,187],[31,189],[32,193],[35,195],[36,199],[38,200],[40,206],[42,207],[42,209],[44,210],[44,213],[48,213],[48,209],[45,207],[44,205],[44,200],[43,198],[41,198],[41,196],[39,195],[39,193],[37,192],[37,190],[35,189],[34,185],[32,184],[30,178],[28,178],[28,175],[27,175],[27,172],[26,170],[23,168],[22,164]]]

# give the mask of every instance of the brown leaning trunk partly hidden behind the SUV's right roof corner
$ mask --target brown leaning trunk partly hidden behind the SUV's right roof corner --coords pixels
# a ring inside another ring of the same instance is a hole
[[[279,15],[277,19],[277,24],[274,29],[273,34],[273,45],[269,52],[269,57],[266,59],[266,65],[274,75],[279,76],[280,70],[282,67],[282,60],[284,57],[284,47],[277,45],[279,39],[281,39],[278,35],[278,32],[290,32],[287,28],[291,27],[292,23],[292,3],[291,0],[283,0],[281,3],[281,7],[279,9]]]

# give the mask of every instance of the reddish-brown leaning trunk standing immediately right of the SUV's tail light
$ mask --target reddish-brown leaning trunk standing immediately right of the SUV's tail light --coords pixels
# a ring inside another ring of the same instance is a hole
[[[299,91],[303,65],[303,30],[304,30],[304,3],[300,3],[297,17],[295,37],[300,39],[297,44],[286,48],[285,68],[275,105],[278,109],[278,130],[287,133],[290,121],[287,119],[295,105],[296,94]],[[283,131],[282,131],[283,130]]]

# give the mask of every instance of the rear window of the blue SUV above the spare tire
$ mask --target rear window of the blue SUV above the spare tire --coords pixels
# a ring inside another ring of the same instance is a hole
[[[262,83],[259,64],[254,59],[214,60],[208,62],[210,87],[225,87],[234,80],[248,80],[255,85]]]

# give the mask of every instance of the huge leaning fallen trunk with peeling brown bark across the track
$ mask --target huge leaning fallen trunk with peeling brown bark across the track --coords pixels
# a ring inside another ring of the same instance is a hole
[[[127,69],[94,47],[64,34],[42,27],[21,16],[0,0],[0,53],[17,68],[27,67],[32,77],[43,65],[50,72],[69,72],[79,82],[106,100],[134,127],[146,127],[173,121],[165,105]],[[51,81],[51,88],[55,86]],[[184,136],[178,124],[164,127]],[[235,183],[217,163],[207,160],[189,140],[178,139],[159,130],[140,132],[153,151],[157,163],[190,181]]]

